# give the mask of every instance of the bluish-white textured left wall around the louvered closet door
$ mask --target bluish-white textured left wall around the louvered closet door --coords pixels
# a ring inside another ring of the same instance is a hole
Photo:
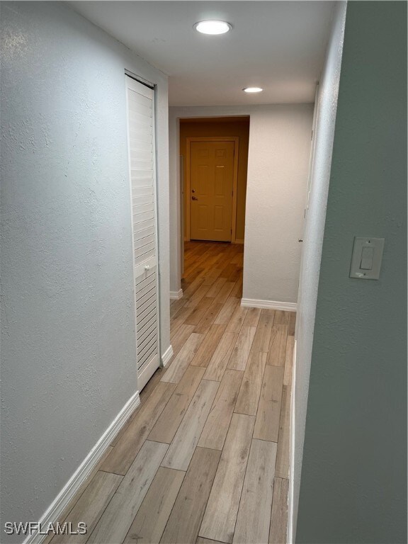
[[[169,178],[161,72],[59,2],[2,3],[1,33],[4,523],[39,520],[137,391],[125,69],[158,86],[162,353]]]

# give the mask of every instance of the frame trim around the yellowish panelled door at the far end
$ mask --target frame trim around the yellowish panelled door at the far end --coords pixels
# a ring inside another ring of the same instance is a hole
[[[238,191],[238,157],[239,136],[188,136],[186,137],[186,242],[190,242],[191,232],[191,142],[234,142],[234,171],[232,176],[232,216],[231,243],[237,240],[237,191]]]

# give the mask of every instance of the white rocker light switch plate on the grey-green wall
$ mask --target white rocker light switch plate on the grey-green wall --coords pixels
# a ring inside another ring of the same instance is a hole
[[[356,236],[351,256],[350,278],[378,280],[383,249],[384,238]]]

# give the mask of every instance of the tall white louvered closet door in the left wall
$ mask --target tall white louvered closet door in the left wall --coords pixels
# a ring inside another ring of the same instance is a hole
[[[137,387],[159,367],[159,289],[154,149],[154,91],[126,77],[132,198]]]

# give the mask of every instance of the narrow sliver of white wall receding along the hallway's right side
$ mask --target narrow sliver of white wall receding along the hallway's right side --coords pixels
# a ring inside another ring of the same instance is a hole
[[[299,502],[302,472],[303,442],[307,395],[309,391],[310,363],[317,288],[326,219],[327,196],[331,170],[331,153],[336,122],[337,96],[343,51],[346,2],[336,2],[327,55],[319,84],[316,135],[310,184],[310,197],[303,237],[303,254],[300,271],[299,299],[296,322],[296,359],[293,369],[292,440],[290,467],[289,542],[295,540],[297,505]]]

